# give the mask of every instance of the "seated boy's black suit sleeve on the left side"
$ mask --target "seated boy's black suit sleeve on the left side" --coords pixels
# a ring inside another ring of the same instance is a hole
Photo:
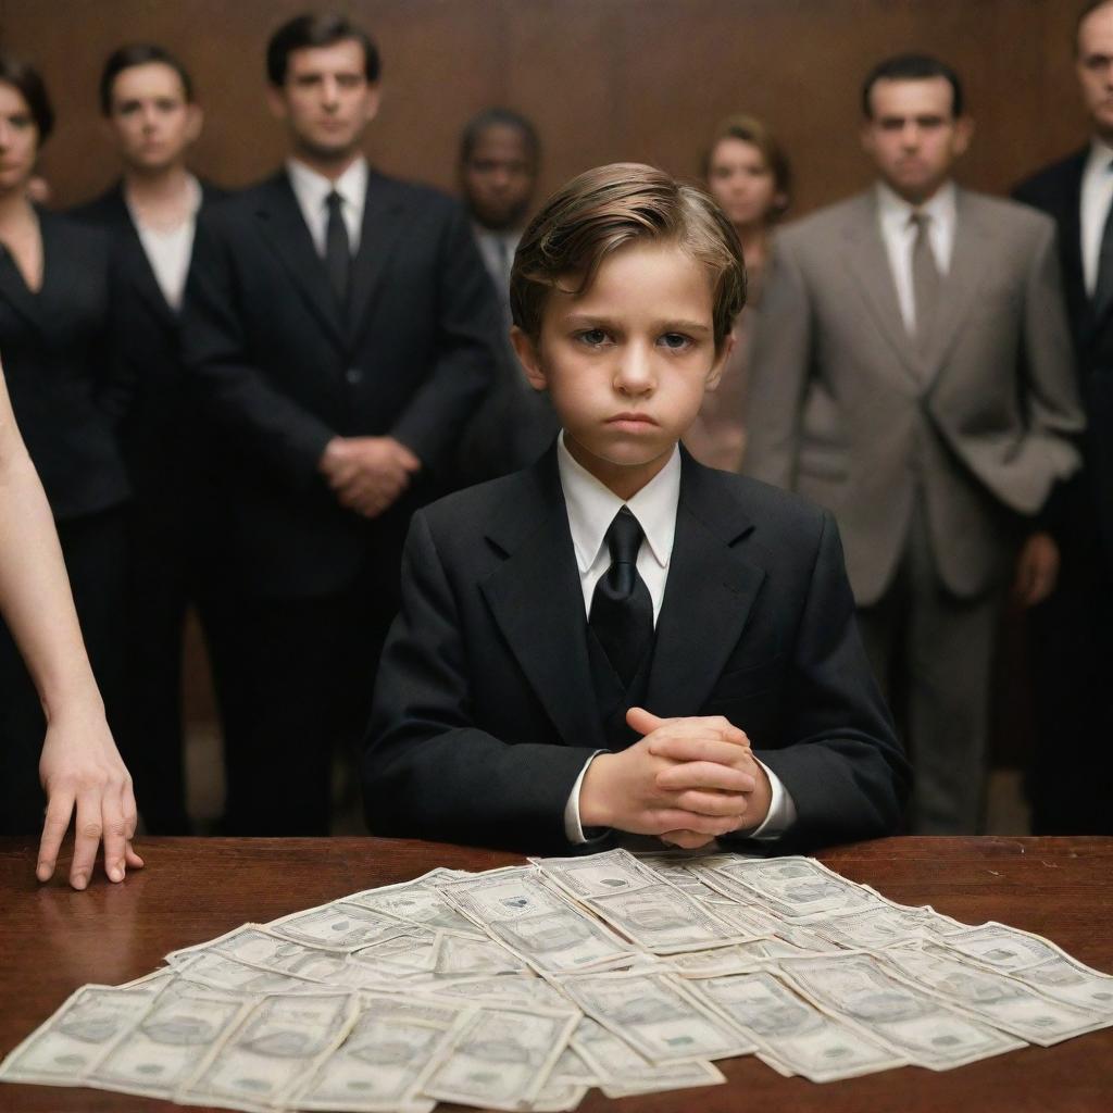
[[[375,835],[568,849],[564,807],[594,750],[495,738],[472,722],[460,612],[423,512],[402,558],[363,757]]]

